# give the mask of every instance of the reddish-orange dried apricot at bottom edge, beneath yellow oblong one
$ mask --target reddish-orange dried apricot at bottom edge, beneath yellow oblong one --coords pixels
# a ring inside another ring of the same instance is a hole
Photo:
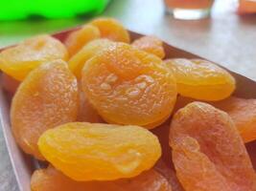
[[[32,191],[172,191],[168,181],[152,169],[131,179],[75,181],[52,166],[34,172],[31,189]]]

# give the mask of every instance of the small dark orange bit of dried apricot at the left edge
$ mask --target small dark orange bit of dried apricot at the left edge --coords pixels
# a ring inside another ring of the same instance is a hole
[[[1,78],[2,78],[3,88],[11,95],[14,95],[19,86],[19,81],[17,81],[16,79],[14,79],[12,76],[8,74],[2,74]]]

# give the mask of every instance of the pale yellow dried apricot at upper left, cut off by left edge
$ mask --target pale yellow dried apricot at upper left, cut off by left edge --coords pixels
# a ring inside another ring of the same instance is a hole
[[[50,35],[39,35],[1,52],[0,69],[22,81],[37,66],[54,59],[68,59],[65,46]]]

